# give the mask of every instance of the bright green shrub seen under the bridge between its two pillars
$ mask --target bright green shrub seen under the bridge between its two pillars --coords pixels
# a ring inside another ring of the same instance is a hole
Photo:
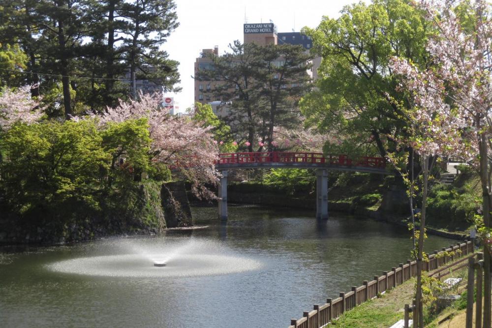
[[[264,183],[281,186],[289,195],[297,189],[313,186],[315,181],[313,172],[307,169],[272,169],[264,178]]]

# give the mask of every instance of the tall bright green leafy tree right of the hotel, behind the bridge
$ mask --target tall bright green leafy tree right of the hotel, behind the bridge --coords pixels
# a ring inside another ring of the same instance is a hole
[[[322,57],[317,89],[301,103],[307,122],[381,156],[387,148],[398,149],[406,122],[391,99],[407,101],[395,90],[389,61],[397,56],[424,65],[427,24],[409,0],[373,0],[345,6],[339,18],[324,17],[315,29],[304,28]]]

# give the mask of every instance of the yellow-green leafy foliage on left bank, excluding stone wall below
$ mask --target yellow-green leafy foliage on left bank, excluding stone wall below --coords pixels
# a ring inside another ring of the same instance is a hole
[[[150,162],[150,143],[146,119],[103,129],[92,119],[15,124],[0,137],[0,189],[28,221],[155,216],[144,211],[149,196],[138,181],[142,172],[158,180],[170,173]]]

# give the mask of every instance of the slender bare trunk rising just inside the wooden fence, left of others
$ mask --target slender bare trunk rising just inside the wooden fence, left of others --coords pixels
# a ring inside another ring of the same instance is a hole
[[[419,229],[419,246],[417,254],[417,291],[415,295],[416,311],[418,323],[415,327],[424,328],[423,304],[422,304],[422,269],[423,269],[423,251],[424,251],[424,235],[426,228],[426,207],[427,207],[427,184],[429,181],[429,155],[422,155],[422,173],[424,175],[423,192],[422,192],[422,210],[420,217]]]

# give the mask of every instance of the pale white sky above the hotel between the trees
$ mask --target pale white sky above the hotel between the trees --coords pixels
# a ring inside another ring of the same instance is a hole
[[[243,24],[269,23],[277,32],[315,28],[323,16],[337,18],[344,5],[356,0],[175,0],[180,26],[162,47],[180,62],[179,93],[173,96],[180,112],[193,104],[193,65],[202,49],[219,47],[219,54],[234,40],[243,42]]]

